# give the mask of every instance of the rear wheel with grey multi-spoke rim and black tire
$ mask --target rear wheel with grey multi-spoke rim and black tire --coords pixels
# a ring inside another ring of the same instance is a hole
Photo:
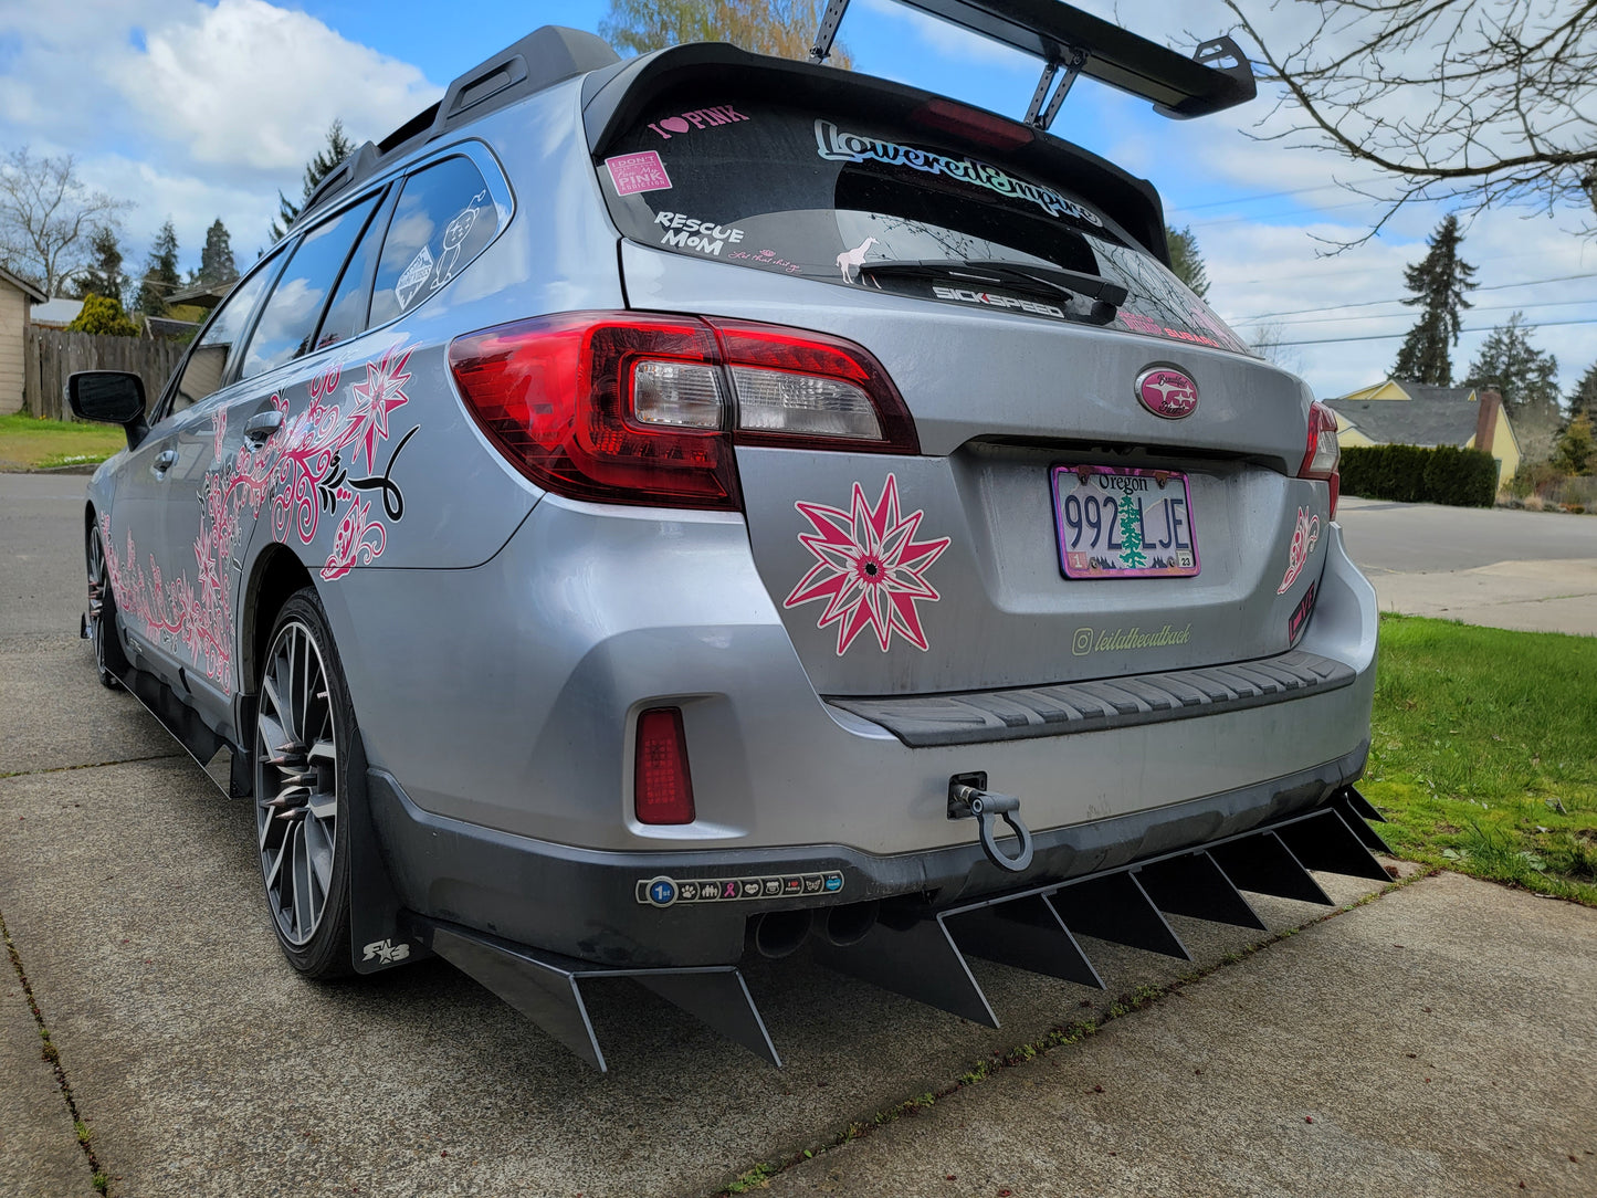
[[[366,762],[339,650],[316,591],[278,612],[256,716],[256,848],[278,946],[307,978],[350,958],[350,803]]]

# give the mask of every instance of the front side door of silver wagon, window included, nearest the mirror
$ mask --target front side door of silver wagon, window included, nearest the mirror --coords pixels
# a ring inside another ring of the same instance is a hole
[[[115,588],[117,601],[128,613],[126,626],[142,641],[136,645],[141,650],[137,664],[163,677],[184,698],[190,695],[193,671],[214,676],[225,658],[212,652],[219,639],[219,617],[209,602],[212,578],[196,569],[193,534],[174,538],[174,527],[182,521],[174,521],[172,513],[196,510],[193,466],[204,455],[203,439],[209,436],[201,430],[214,425],[222,387],[238,367],[243,337],[284,257],[273,254],[251,272],[195,339],[161,398],[155,426],[125,468],[133,503],[123,503],[118,486],[113,534],[121,585]],[[125,506],[126,516],[121,514]]]

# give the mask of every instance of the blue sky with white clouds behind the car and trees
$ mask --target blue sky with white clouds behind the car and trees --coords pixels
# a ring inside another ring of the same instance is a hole
[[[1113,18],[1112,3],[1078,0]],[[1258,5],[1263,8],[1263,3]],[[1230,22],[1217,0],[1123,5],[1145,37],[1187,48]],[[342,117],[380,137],[430,104],[457,73],[540,24],[597,29],[608,0],[0,0],[0,150],[73,153],[85,179],[136,201],[123,248],[144,262],[160,224],[177,227],[184,265],[222,217],[240,260],[265,244],[276,190],[299,192],[305,160]],[[1284,6],[1279,21],[1290,21]],[[1175,30],[1191,30],[1185,37]],[[1020,115],[1035,61],[893,0],[854,0],[843,21],[854,65]],[[1381,236],[1338,256],[1326,240],[1362,235],[1380,209],[1346,188],[1365,171],[1332,155],[1247,136],[1268,99],[1199,121],[1169,121],[1147,102],[1080,83],[1054,131],[1153,180],[1172,224],[1190,225],[1209,267],[1211,303],[1244,337],[1279,326],[1289,363],[1319,395],[1383,377],[1412,324],[1402,267],[1425,254],[1445,209],[1401,212]],[[1278,128],[1278,126],[1270,126]],[[1557,353],[1565,387],[1597,359],[1597,240],[1589,212],[1466,217],[1463,254],[1479,267],[1466,327],[1516,307]],[[1316,240],[1321,238],[1321,240]],[[1575,278],[1568,278],[1575,276]],[[1348,307],[1354,305],[1354,307]],[[1484,332],[1455,351],[1463,372]],[[1353,340],[1361,339],[1361,340]]]

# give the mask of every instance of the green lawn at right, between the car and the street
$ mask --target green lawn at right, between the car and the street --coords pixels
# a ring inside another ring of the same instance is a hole
[[[1402,856],[1597,906],[1597,637],[1383,615],[1359,789]]]

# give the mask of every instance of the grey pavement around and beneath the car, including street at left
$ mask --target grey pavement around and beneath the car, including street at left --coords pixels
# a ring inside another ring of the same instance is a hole
[[[0,1195],[93,1193],[73,1115],[118,1198],[707,1195],[806,1148],[776,1192],[1597,1192],[1597,917],[1450,877],[1257,954],[1258,933],[1180,917],[1193,963],[1089,942],[1107,994],[974,963],[1000,1030],[803,954],[755,962],[783,1070],[620,981],[591,1005],[608,1075],[438,962],[305,982],[248,803],[97,685],[80,562],[81,479],[0,476]],[[1370,890],[1319,877],[1341,902]],[[1326,910],[1254,901],[1276,933]]]

